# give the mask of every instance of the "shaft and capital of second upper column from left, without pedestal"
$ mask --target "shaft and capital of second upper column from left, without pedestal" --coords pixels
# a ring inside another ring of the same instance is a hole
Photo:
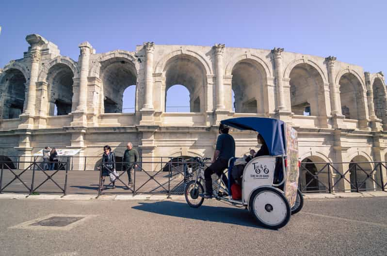
[[[81,49],[81,73],[79,86],[79,101],[76,112],[87,112],[87,77],[89,75],[89,60],[92,46],[89,42],[83,42],[79,45]]]

